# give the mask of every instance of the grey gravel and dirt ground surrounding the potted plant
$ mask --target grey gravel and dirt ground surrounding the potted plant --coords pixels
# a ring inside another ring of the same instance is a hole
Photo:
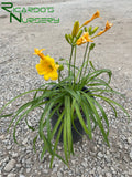
[[[15,6],[48,6],[48,1],[43,0],[13,2]],[[51,4],[55,8],[54,15],[61,18],[59,24],[11,24],[9,15],[0,12],[0,107],[18,94],[44,84],[43,77],[35,71],[38,60],[32,55],[34,48],[45,48],[45,52],[56,60],[59,56],[68,58],[69,48],[63,41],[65,32],[70,31],[76,19],[82,22],[99,9],[105,17],[105,20],[98,21],[99,25],[103,27],[106,19],[114,25],[101,41],[97,39],[91,59],[99,67],[112,70],[111,86],[125,95],[125,102],[118,97],[116,100],[128,110],[130,123],[121,111],[118,118],[114,118],[113,113],[105,105],[109,113],[110,148],[96,128],[92,140],[84,136],[82,142],[75,145],[76,155],[70,159],[70,168],[55,158],[53,169],[50,169],[48,154],[40,160],[41,143],[37,142],[36,154],[32,149],[35,132],[28,131],[22,122],[16,134],[24,146],[18,146],[13,142],[12,129],[7,133],[10,117],[0,119],[0,177],[132,177],[132,2],[73,0],[56,3],[50,1]],[[80,63],[82,51],[78,54]],[[7,112],[14,111],[31,97],[29,95],[18,100]],[[34,111],[29,116],[29,123],[37,126],[38,112]],[[58,148],[62,153],[62,145]]]

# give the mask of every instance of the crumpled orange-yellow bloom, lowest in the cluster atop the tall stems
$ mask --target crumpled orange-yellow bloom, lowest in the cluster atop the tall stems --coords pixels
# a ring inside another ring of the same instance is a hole
[[[90,38],[90,35],[89,35],[88,32],[85,32],[85,33],[82,34],[82,37],[80,37],[80,38],[77,40],[76,44],[77,44],[77,45],[81,45],[81,44],[84,44],[84,43],[86,43],[86,42],[94,42],[94,41],[91,40],[91,38]]]

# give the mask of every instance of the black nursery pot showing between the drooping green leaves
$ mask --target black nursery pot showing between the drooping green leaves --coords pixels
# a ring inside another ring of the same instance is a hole
[[[85,91],[86,93],[90,92],[87,87],[82,87],[81,91]],[[81,114],[82,114],[82,113],[81,113]],[[86,123],[86,118],[85,118],[85,115],[84,115],[84,114],[82,114],[82,118],[84,118],[84,121],[85,121],[85,123]],[[51,118],[52,128],[54,128],[55,124],[57,123],[57,119],[58,119],[58,115],[57,115],[57,113],[55,113],[55,114],[52,116],[52,118]],[[75,127],[77,128],[77,131],[76,131],[76,129],[74,128],[74,126],[72,125],[73,143],[77,143],[77,142],[79,142],[79,140],[82,138],[82,135],[85,134],[85,131],[84,131],[84,128],[82,128],[82,126],[81,126],[78,117],[76,117],[76,118],[74,119],[74,124],[75,124]],[[59,126],[58,126],[58,128],[57,128],[57,131],[56,131],[56,133],[55,133],[55,138],[56,138],[56,136],[57,136],[57,134],[58,134],[58,131],[59,131],[59,128],[61,128],[61,125],[62,125],[62,123],[59,124]],[[63,131],[62,131],[62,134],[61,134],[61,137],[59,137],[59,142],[63,143]]]

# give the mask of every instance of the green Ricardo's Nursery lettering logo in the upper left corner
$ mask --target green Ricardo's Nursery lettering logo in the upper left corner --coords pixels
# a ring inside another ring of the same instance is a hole
[[[1,9],[10,13],[12,19],[20,23],[59,23],[59,18],[23,18],[24,13],[54,13],[54,7],[13,7],[12,2],[1,2]],[[18,13],[18,14],[16,14]]]

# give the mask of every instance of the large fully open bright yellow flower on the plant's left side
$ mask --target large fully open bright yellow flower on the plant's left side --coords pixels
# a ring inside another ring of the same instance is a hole
[[[44,79],[47,80],[57,80],[58,79],[58,70],[59,65],[55,64],[55,61],[50,55],[44,56],[44,59],[40,60],[40,63],[36,64],[36,70],[40,75],[44,75]]]

